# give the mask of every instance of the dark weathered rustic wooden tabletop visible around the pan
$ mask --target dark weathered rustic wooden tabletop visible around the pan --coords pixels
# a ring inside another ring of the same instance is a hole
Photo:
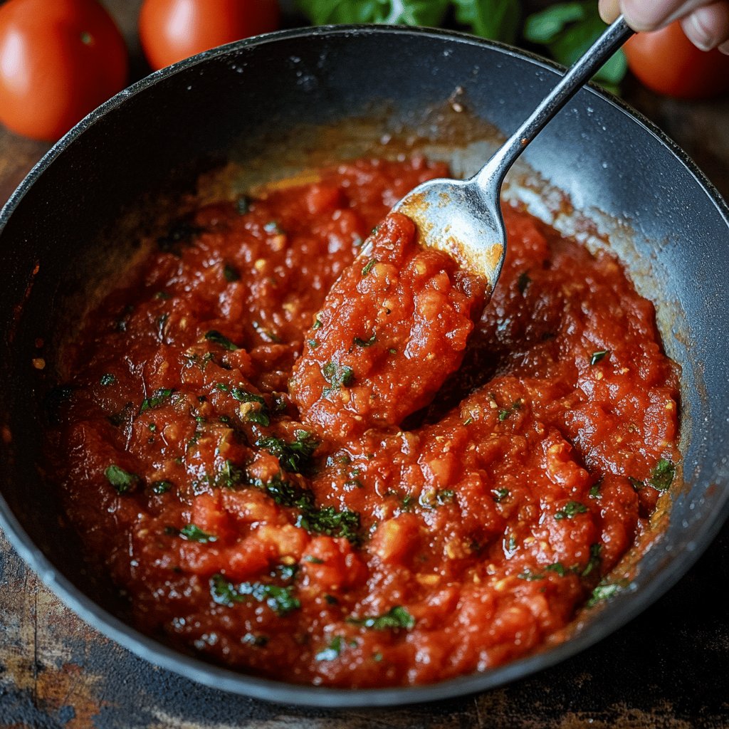
[[[130,39],[139,0],[107,0]],[[729,198],[729,98],[627,98]],[[0,204],[47,145],[0,127]],[[0,533],[0,727],[23,729],[729,727],[729,529],[679,584],[598,646],[499,690],[405,709],[297,709],[200,687],[136,658],[64,607]]]

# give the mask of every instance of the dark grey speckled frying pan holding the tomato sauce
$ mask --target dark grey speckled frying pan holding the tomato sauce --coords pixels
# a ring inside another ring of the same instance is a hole
[[[557,74],[529,54],[451,32],[282,31],[152,74],[41,160],[0,214],[0,525],[61,599],[136,654],[205,685],[311,706],[375,706],[472,693],[551,666],[623,625],[687,571],[729,512],[729,209],[650,122],[593,87],[531,144],[528,174],[516,171],[508,192],[593,244],[609,235],[639,291],[657,303],[666,351],[683,369],[685,486],[673,494],[662,536],[632,566],[628,589],[585,612],[571,639],[426,687],[333,690],[211,666],[124,622],[113,590],[79,559],[52,474],[39,464],[58,341],[98,281],[133,255],[149,211],[194,190],[201,171],[230,160],[255,170],[254,157],[284,169],[286,144],[297,153],[327,147],[328,128],[373,148],[383,135],[407,146],[416,130],[434,149],[451,149],[456,171],[466,171],[485,154],[466,120],[509,133]],[[467,144],[456,153],[459,142]]]

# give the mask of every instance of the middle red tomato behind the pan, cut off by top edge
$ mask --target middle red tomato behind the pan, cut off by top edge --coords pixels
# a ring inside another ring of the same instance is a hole
[[[139,38],[152,69],[278,28],[277,0],[144,0]]]

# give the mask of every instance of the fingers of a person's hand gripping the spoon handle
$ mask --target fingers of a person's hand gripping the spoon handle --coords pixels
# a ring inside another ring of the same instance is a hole
[[[701,50],[729,55],[729,0],[600,0],[600,15],[612,23],[623,13],[636,31],[655,31],[681,19],[686,37]]]

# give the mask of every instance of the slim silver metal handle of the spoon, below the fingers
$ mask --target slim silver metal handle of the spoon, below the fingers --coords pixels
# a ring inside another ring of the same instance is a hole
[[[541,104],[526,119],[515,133],[510,136],[504,145],[491,157],[490,160],[476,174],[476,182],[480,187],[493,185],[496,181],[499,186],[504,176],[521,155],[529,143],[537,136],[547,122],[577,93],[582,85],[598,71],[608,58],[625,43],[634,30],[625,23],[623,16],[615,20],[612,26],[596,40],[585,52],[585,55],[574,63],[564,74],[560,82],[543,99]]]

